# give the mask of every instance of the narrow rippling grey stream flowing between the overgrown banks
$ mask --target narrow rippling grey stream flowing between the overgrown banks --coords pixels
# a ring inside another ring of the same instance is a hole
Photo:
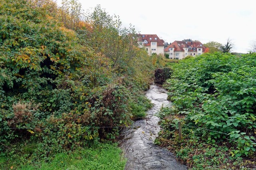
[[[146,119],[135,121],[133,128],[121,132],[120,148],[127,159],[125,170],[187,170],[171,152],[154,144],[160,131],[160,119],[155,114],[162,105],[170,105],[167,96],[165,89],[156,84],[151,85],[146,97],[154,106],[147,111]]]

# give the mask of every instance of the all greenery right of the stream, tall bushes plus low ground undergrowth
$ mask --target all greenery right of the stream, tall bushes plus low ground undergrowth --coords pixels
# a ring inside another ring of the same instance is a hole
[[[171,108],[162,108],[156,143],[191,169],[255,167],[256,55],[205,53],[168,63],[165,87]],[[178,122],[182,140],[178,140]]]

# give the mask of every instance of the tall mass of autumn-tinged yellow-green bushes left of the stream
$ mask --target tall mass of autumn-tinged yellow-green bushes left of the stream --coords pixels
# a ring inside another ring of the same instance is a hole
[[[48,164],[53,154],[114,141],[152,106],[143,91],[162,56],[138,48],[134,28],[100,6],[81,20],[77,1],[62,5],[1,1],[0,155],[7,164]]]

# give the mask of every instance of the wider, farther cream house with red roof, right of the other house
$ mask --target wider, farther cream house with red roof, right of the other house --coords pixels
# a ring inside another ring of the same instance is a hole
[[[201,55],[206,47],[198,41],[174,41],[164,49],[170,59],[183,59],[186,56]]]

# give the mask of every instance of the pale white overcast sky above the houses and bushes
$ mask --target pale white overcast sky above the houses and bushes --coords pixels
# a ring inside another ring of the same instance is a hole
[[[61,2],[61,0],[57,0]],[[98,4],[122,25],[136,32],[156,34],[165,42],[183,39],[234,43],[233,52],[247,53],[256,41],[255,0],[79,0],[82,8]]]

